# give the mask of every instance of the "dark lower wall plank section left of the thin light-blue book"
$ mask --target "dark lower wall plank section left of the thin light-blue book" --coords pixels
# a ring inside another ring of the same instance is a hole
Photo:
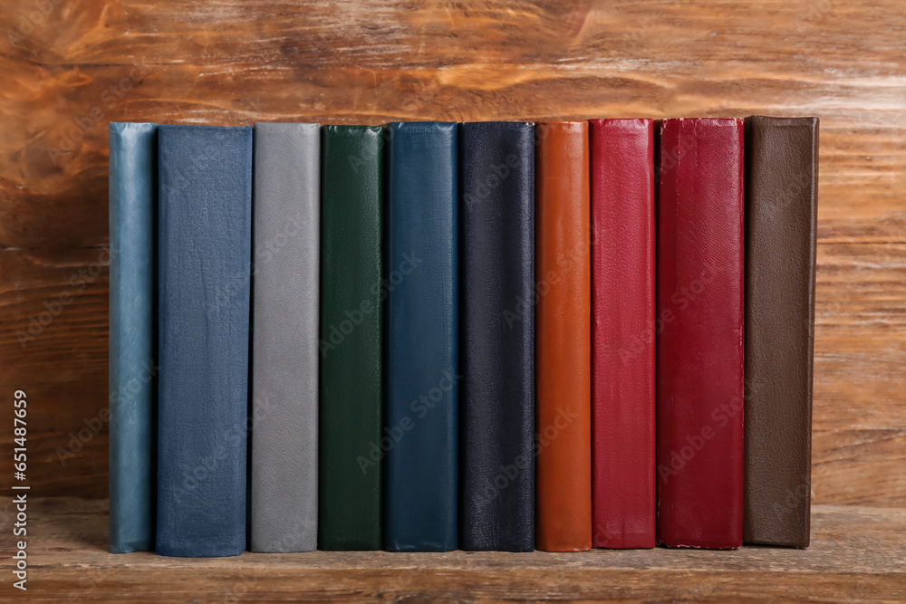
[[[108,260],[103,249],[0,251],[0,396],[27,394],[38,493],[108,492]],[[7,430],[0,455],[12,449]]]

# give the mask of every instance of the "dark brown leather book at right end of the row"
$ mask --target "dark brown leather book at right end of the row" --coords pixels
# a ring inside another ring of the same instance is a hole
[[[746,125],[743,541],[806,547],[818,119]]]

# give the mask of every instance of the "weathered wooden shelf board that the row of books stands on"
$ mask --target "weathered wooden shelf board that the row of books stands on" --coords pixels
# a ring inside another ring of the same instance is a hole
[[[103,500],[33,501],[29,600],[906,599],[901,508],[816,506],[807,550],[246,552],[213,559],[108,553],[106,512]],[[8,514],[4,520],[6,531]],[[9,560],[6,541],[3,548]]]

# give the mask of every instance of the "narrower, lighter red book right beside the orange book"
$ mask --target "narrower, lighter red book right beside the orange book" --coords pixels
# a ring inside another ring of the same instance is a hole
[[[654,547],[654,126],[591,136],[593,544]]]

